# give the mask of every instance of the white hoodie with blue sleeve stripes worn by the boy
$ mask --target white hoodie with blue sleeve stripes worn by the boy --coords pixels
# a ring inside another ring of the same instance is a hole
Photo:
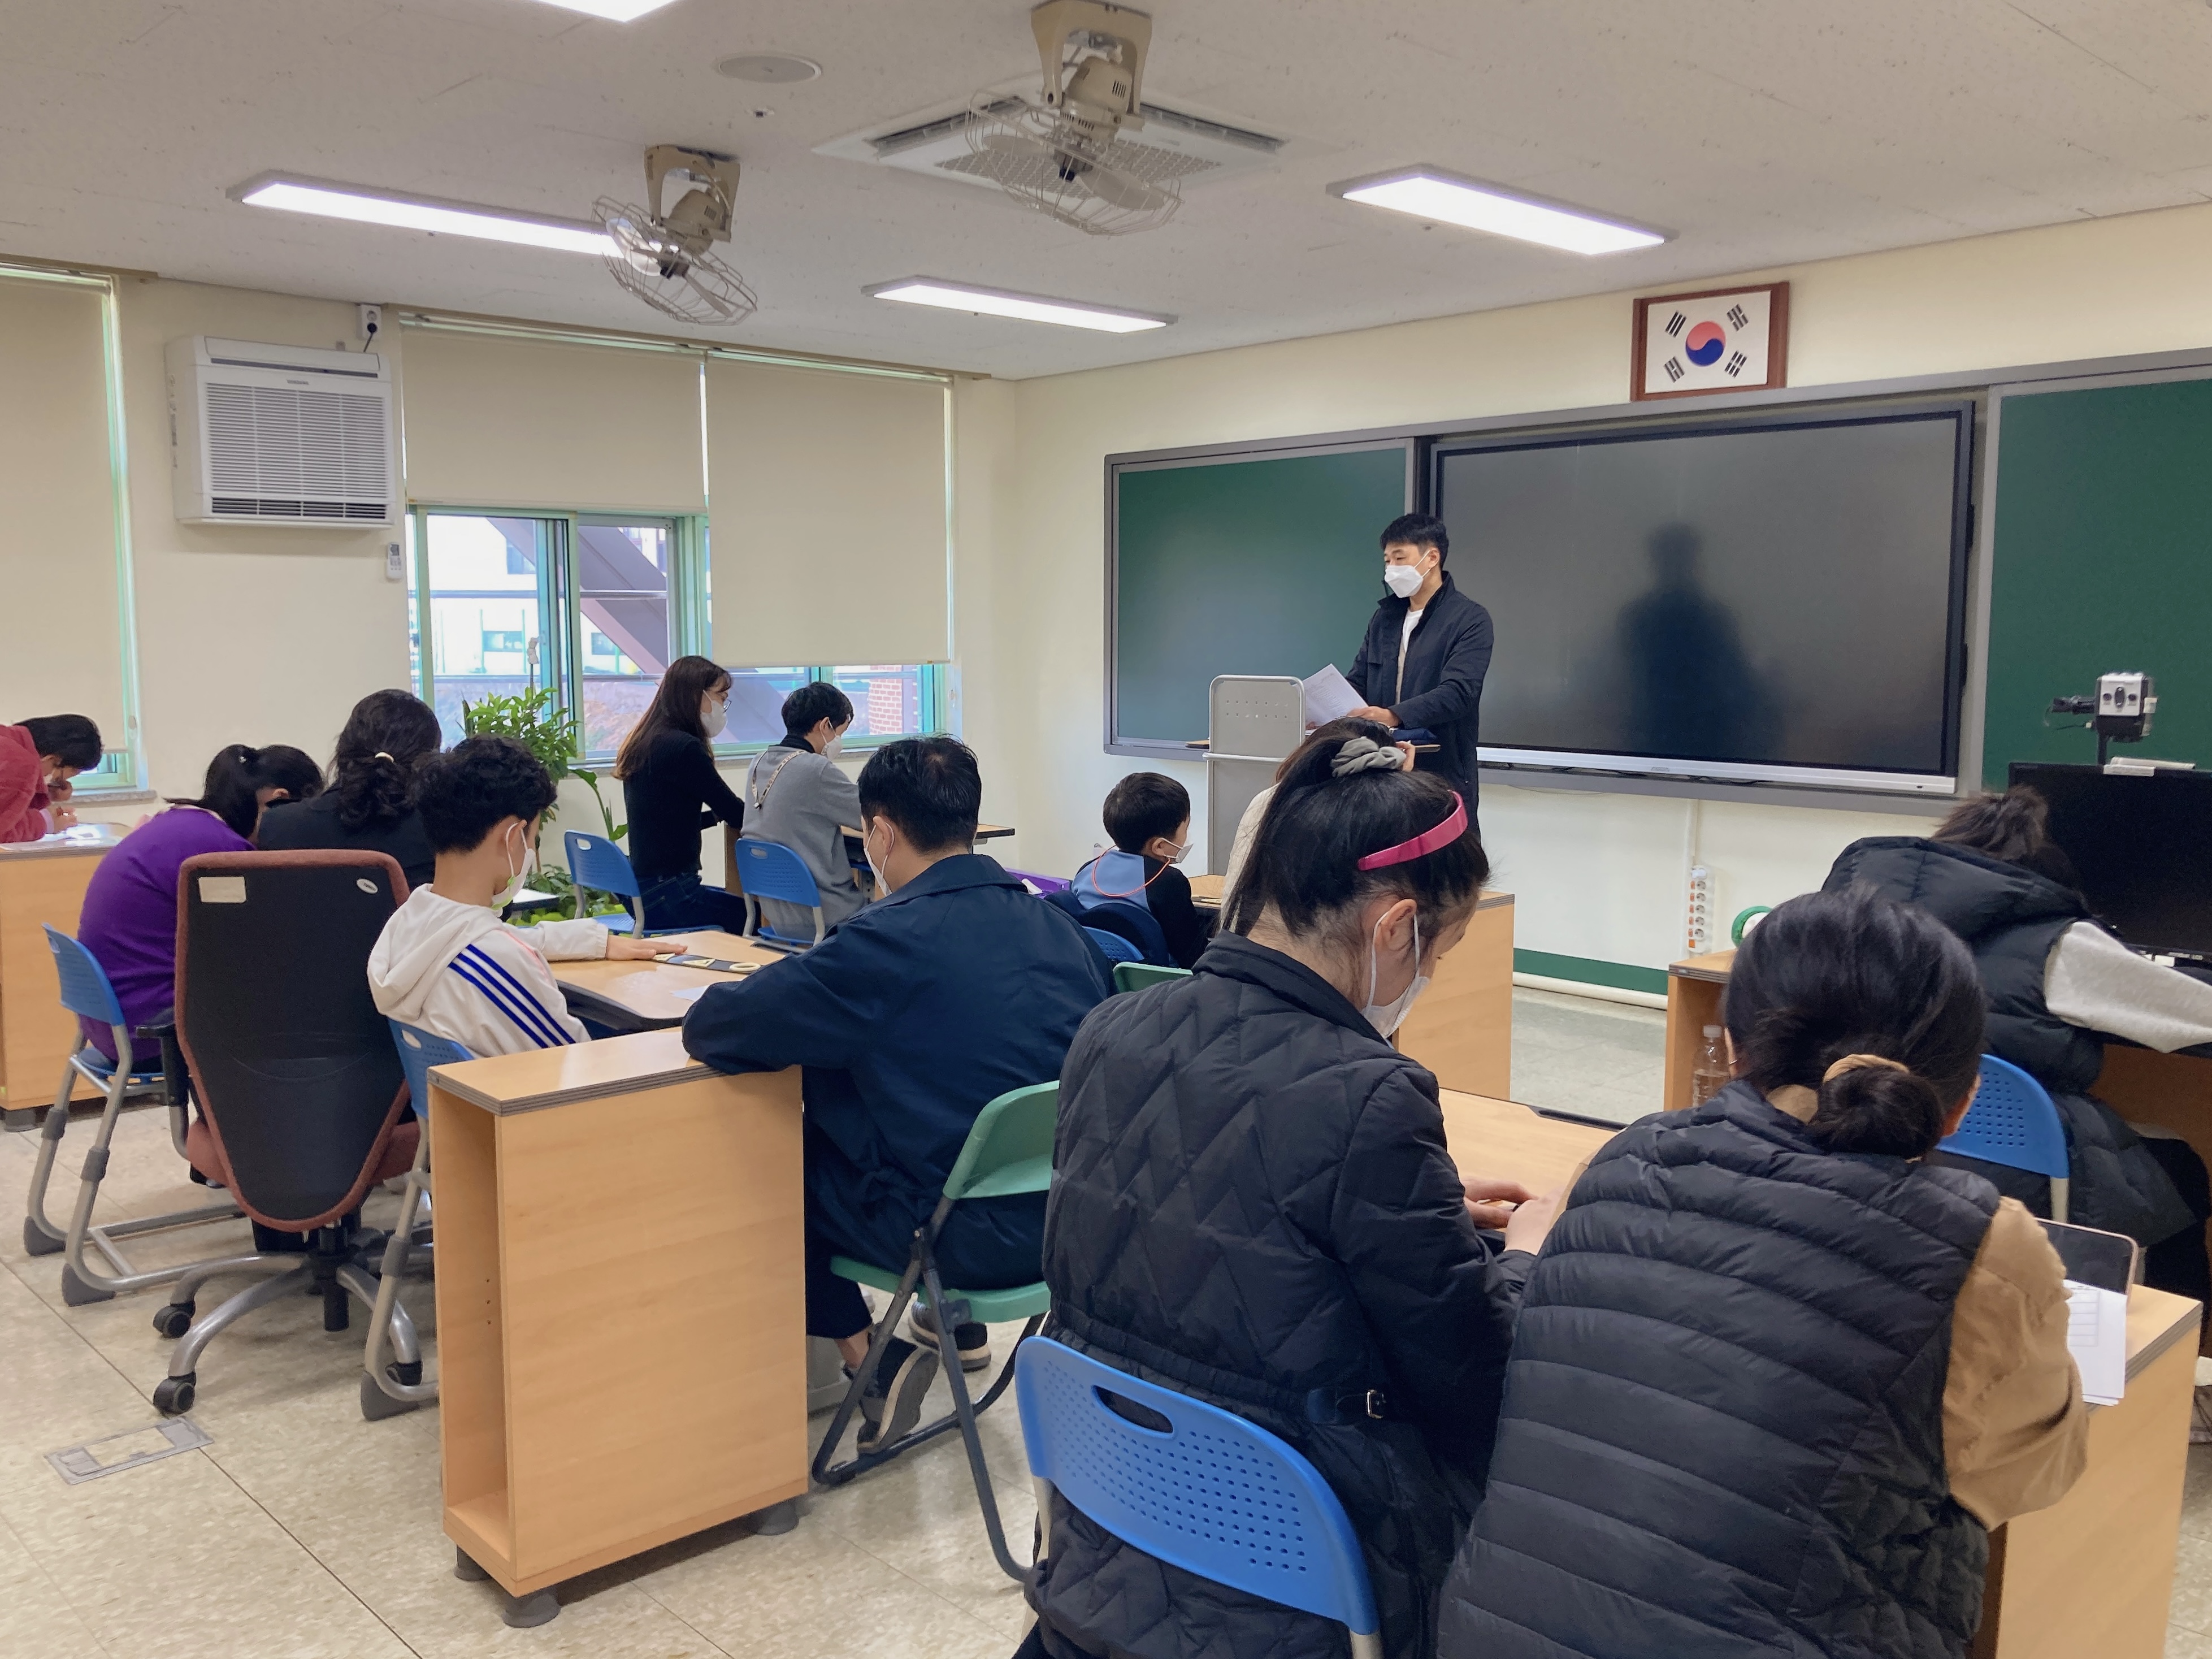
[[[369,951],[369,991],[389,1020],[458,1042],[473,1055],[513,1055],[588,1042],[568,1013],[555,962],[606,956],[597,922],[509,927],[495,909],[407,894]]]

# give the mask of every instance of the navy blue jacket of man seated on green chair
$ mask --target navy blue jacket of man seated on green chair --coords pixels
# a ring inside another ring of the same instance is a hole
[[[803,1066],[807,1121],[865,1170],[865,1203],[927,1214],[975,1113],[1060,1077],[1113,993],[1106,958],[995,858],[945,858],[830,938],[684,1020],[714,1071]]]

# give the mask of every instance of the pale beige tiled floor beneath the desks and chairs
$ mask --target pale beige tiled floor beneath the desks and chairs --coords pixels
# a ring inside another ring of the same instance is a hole
[[[1515,1020],[1524,1099],[1617,1119],[1657,1108],[1657,1013],[1520,991]],[[88,1135],[80,1117],[55,1210]],[[0,1135],[0,1659],[1004,1659],[1020,1641],[1020,1590],[991,1562],[951,1438],[805,1500],[794,1533],[737,1522],[670,1544],[562,1586],[553,1624],[509,1630],[493,1586],[451,1575],[436,1409],[363,1422],[361,1318],[325,1334],[307,1298],[210,1345],[192,1409],[206,1449],[66,1486],[44,1455],[153,1422],[168,1343],[150,1327],[159,1292],[64,1307],[60,1256],[24,1256],[35,1150]],[[195,1203],[179,1168],[161,1115],[131,1113],[102,1210]],[[217,1241],[241,1248],[246,1230],[170,1248]],[[407,1303],[427,1329],[429,1287]],[[436,1371],[434,1340],[427,1360]],[[1011,1409],[984,1418],[984,1440],[1022,1553],[1035,1511]],[[2190,1455],[2168,1655],[2212,1659],[2212,1447]]]

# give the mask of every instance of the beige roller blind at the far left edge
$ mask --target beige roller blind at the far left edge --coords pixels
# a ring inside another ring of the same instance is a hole
[[[93,283],[0,276],[0,721],[91,714],[119,750],[104,299]]]

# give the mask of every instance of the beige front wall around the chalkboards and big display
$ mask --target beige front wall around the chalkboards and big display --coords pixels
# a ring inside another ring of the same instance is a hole
[[[2212,206],[1867,254],[1792,281],[1792,385],[2002,369],[2212,345]],[[991,573],[991,622],[962,615],[962,703],[1020,858],[1066,869],[1106,787],[1141,761],[1102,752],[1108,453],[1621,403],[1630,296],[1254,345],[1013,387],[1013,458],[989,513],[962,515],[962,577]],[[962,478],[973,469],[964,467]],[[967,597],[962,595],[962,606]],[[1363,617],[1345,617],[1349,659]],[[989,633],[989,664],[971,655]],[[978,641],[980,644],[980,641]],[[989,708],[982,723],[975,710]],[[1203,818],[1203,768],[1168,765]],[[1498,880],[1526,949],[1659,967],[1679,953],[1692,823],[1717,909],[1816,887],[1856,836],[1916,818],[1526,787],[1482,792]]]

